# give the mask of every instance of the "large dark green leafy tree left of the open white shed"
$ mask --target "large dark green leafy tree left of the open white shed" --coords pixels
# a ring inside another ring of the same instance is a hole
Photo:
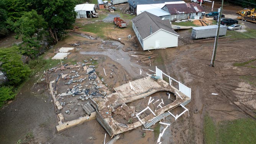
[[[36,3],[38,13],[48,22],[50,36],[57,43],[75,22],[75,0],[37,0]]]

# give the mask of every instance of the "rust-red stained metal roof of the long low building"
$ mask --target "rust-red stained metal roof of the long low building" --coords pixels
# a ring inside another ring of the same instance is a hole
[[[205,11],[203,10],[203,7],[200,6],[198,3],[166,4],[166,8],[171,15],[180,13],[198,13]]]

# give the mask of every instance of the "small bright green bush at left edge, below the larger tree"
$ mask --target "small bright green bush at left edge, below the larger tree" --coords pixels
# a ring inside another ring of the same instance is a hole
[[[2,107],[7,100],[12,100],[14,97],[15,93],[13,92],[13,87],[0,87],[0,107]]]

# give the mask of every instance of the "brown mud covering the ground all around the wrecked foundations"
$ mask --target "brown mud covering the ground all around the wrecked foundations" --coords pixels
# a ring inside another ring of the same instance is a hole
[[[127,7],[127,6],[122,6]],[[234,10],[227,8],[230,14]],[[225,12],[225,11],[224,11]],[[249,24],[249,28],[251,23]],[[214,121],[232,120],[238,118],[253,118],[255,106],[255,85],[248,83],[243,77],[256,77],[255,68],[236,67],[235,62],[246,62],[256,59],[255,39],[232,38],[219,39],[215,67],[210,67],[214,40],[194,42],[189,30],[179,30],[179,47],[142,51],[132,29],[118,29],[108,33],[109,39],[88,39],[74,33],[54,48],[70,47],[69,44],[84,43],[80,51],[72,52],[68,59],[72,62],[82,62],[92,57],[98,59],[96,71],[110,90],[127,83],[130,80],[146,76],[148,69],[158,66],[166,74],[179,80],[192,89],[189,109],[177,121],[169,116],[163,122],[170,123],[161,141],[170,143],[203,143],[203,118],[206,113]],[[132,35],[131,39],[118,38]],[[94,34],[90,34],[96,37]],[[3,40],[5,41],[5,40]],[[120,47],[118,47],[120,46]],[[117,48],[118,47],[118,48]],[[138,55],[134,57],[131,55]],[[53,56],[53,49],[44,58]],[[152,57],[146,58],[145,57]],[[255,61],[252,65],[256,65]],[[113,79],[105,77],[115,72]],[[142,75],[139,75],[139,70]],[[13,144],[32,131],[34,139],[30,143],[49,142],[50,144],[99,144],[103,143],[105,133],[94,119],[74,128],[57,133],[56,110],[45,81],[41,81],[43,72],[26,82],[10,104],[0,110],[0,139],[3,144]],[[218,93],[219,95],[212,95]],[[146,101],[146,102],[145,102]],[[148,102],[145,98],[144,104]],[[136,104],[136,103],[135,103]],[[171,112],[181,113],[177,107]],[[155,126],[153,126],[154,129]],[[160,126],[160,133],[164,129]],[[142,137],[146,133],[145,137]],[[107,140],[110,136],[107,134]],[[153,131],[144,131],[142,127],[121,135],[117,144],[154,144],[157,137]]]

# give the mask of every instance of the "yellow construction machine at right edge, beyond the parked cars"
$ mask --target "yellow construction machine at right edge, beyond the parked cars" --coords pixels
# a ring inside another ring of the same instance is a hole
[[[241,16],[238,16],[237,19],[256,23],[256,13],[254,13],[254,10],[255,8],[253,8],[252,10],[246,9],[238,11],[237,13]]]

